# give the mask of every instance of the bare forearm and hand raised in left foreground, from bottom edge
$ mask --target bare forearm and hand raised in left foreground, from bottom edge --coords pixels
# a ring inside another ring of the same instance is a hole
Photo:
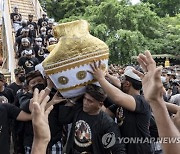
[[[34,91],[34,102],[31,113],[34,138],[31,154],[46,154],[47,145],[51,138],[48,115],[53,109],[53,106],[46,109],[49,96],[44,98],[44,94],[44,90],[42,90],[40,94],[38,89]]]

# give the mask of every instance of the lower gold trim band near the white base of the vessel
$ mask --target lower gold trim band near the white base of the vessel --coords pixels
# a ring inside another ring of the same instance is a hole
[[[67,92],[69,90],[75,90],[75,89],[79,89],[79,88],[85,87],[88,84],[92,84],[92,83],[95,83],[95,82],[97,82],[97,80],[93,79],[93,80],[90,80],[90,81],[87,81],[87,82],[84,82],[84,83],[81,83],[81,84],[78,84],[78,85],[75,85],[75,86],[71,86],[71,87],[68,87],[68,88],[58,89],[58,91],[59,92]]]

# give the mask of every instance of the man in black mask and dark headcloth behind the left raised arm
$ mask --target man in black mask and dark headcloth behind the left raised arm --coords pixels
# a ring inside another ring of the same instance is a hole
[[[28,92],[23,94],[19,99],[20,107],[23,111],[27,113],[31,113],[31,106],[30,102],[32,100],[33,91],[35,88],[39,89],[39,91],[45,89],[45,95],[48,95],[51,91],[52,85],[48,84],[46,87],[46,81],[43,78],[42,74],[39,71],[32,71],[27,74],[26,76],[26,83]],[[50,93],[51,96],[51,93]],[[50,101],[51,102],[51,101]],[[49,103],[50,103],[49,102]],[[53,152],[61,152],[61,148],[58,149],[58,146],[61,147],[61,137],[62,137],[62,125],[58,122],[58,115],[59,115],[59,105],[54,105],[53,110],[49,115],[49,127],[51,130],[51,141],[48,145],[48,150]],[[24,147],[25,152],[31,151],[31,146],[33,143],[33,127],[32,122],[25,122],[24,123]],[[52,148],[56,146],[55,150]]]

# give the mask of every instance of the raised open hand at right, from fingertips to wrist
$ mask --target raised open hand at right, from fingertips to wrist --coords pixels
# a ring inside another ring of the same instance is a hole
[[[156,68],[156,62],[149,51],[145,51],[145,54],[139,54],[137,61],[143,68],[144,73],[137,70],[133,70],[133,72],[142,79],[144,97],[150,103],[162,102],[164,92],[161,82],[162,68]]]

